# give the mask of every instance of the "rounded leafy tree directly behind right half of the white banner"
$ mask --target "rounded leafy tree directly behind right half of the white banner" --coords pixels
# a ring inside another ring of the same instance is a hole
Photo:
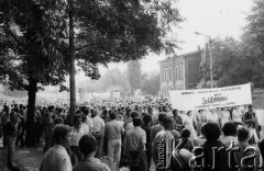
[[[219,87],[263,80],[263,67],[256,50],[248,42],[232,37],[212,41],[213,80]]]

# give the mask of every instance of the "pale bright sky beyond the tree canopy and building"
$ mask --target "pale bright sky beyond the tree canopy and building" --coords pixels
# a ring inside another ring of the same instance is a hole
[[[180,44],[180,49],[177,49],[176,54],[182,55],[197,50],[198,46],[201,48],[205,46],[208,38],[194,32],[200,32],[211,38],[226,36],[239,38],[252,5],[253,0],[177,0],[176,7],[185,22],[180,24],[180,30],[174,30],[172,36],[177,35],[178,39],[185,43]],[[158,61],[165,58],[165,55],[150,54],[141,60],[142,71],[158,71]],[[127,64],[109,65],[110,69],[116,67],[124,70]],[[106,70],[100,67],[101,73]]]

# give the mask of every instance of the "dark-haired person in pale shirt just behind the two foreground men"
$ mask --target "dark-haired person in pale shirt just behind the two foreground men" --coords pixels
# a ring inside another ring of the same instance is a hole
[[[72,128],[70,135],[73,137],[70,141],[70,150],[78,157],[78,161],[82,159],[82,153],[79,150],[79,139],[89,134],[86,126],[82,125],[82,117],[80,114],[76,114],[74,117],[74,127]]]

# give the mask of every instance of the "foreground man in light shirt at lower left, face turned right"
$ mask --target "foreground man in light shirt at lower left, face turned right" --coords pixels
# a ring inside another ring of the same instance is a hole
[[[55,146],[50,148],[42,160],[40,171],[72,171],[73,166],[66,151],[72,140],[70,127],[58,125],[54,129]]]

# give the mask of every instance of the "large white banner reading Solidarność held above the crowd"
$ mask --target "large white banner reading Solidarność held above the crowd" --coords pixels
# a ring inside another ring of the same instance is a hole
[[[180,111],[252,104],[251,83],[213,89],[169,91],[169,98],[173,107]]]

